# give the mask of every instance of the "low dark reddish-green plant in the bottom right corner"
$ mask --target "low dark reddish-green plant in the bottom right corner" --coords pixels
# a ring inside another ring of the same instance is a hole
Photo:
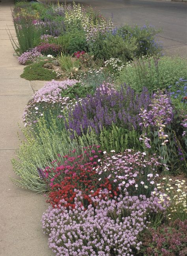
[[[144,241],[140,251],[145,256],[187,254],[186,246],[187,220],[176,220],[163,224],[157,229],[148,229],[144,234]]]

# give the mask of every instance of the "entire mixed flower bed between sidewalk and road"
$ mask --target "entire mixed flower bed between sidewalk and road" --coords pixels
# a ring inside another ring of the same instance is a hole
[[[186,60],[148,24],[116,28],[80,4],[18,2],[27,103],[16,185],[45,193],[57,256],[187,254]]]

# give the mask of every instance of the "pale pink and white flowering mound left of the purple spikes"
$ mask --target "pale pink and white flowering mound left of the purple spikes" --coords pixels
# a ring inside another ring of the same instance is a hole
[[[43,115],[47,119],[53,115],[62,118],[59,109],[62,112],[77,97],[86,97],[93,93],[92,86],[86,86],[77,80],[47,82],[26,105],[23,113],[25,126],[36,122]]]

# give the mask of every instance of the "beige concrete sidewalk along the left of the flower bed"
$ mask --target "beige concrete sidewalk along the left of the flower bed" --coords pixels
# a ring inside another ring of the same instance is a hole
[[[11,6],[13,0],[0,2],[0,256],[52,256],[40,223],[48,207],[45,198],[16,187],[9,179],[15,177],[10,159],[20,144],[17,123],[21,124],[25,104],[34,92],[30,82],[20,78],[23,66],[13,56],[6,32],[8,25],[15,36]]]

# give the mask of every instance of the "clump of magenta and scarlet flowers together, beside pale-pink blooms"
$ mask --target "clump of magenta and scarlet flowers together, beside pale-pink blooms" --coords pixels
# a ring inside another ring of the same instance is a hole
[[[108,178],[105,178],[104,181],[101,180],[95,170],[99,164],[97,161],[99,154],[102,153],[98,148],[99,146],[96,146],[95,150],[88,147],[87,149],[90,149],[91,152],[88,153],[87,150],[84,150],[83,154],[76,157],[64,156],[64,164],[57,163],[56,168],[45,168],[46,179],[49,177],[49,172],[50,176],[54,173],[53,178],[50,178],[52,191],[47,203],[52,204],[53,207],[60,204],[67,208],[74,208],[77,191],[81,191],[82,206],[86,209],[89,204],[93,204],[92,199],[97,197],[101,190],[107,189],[108,191],[106,195],[102,194],[101,198],[103,199],[108,195],[110,198],[118,195],[119,190],[112,187]],[[85,162],[85,160],[89,161]]]

